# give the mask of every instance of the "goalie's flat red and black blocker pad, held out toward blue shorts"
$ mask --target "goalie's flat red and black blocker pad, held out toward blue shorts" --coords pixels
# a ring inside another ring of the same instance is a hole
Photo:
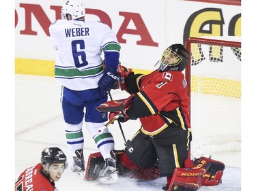
[[[98,107],[96,107],[96,109],[100,112],[124,111],[124,109],[128,109],[130,107],[130,103],[132,102],[132,97],[134,97],[134,94],[131,94],[130,97],[126,99],[106,101],[100,104]]]

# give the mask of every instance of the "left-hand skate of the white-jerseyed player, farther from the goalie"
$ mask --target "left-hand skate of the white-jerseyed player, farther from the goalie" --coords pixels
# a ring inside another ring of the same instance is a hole
[[[76,150],[76,156],[73,156],[73,165],[71,170],[79,177],[85,178],[85,158],[83,157],[83,150]]]

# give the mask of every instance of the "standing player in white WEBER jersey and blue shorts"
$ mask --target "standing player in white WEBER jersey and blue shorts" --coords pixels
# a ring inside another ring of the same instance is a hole
[[[117,65],[121,47],[108,25],[85,21],[83,1],[66,1],[61,17],[51,24],[49,32],[57,50],[55,79],[62,85],[63,126],[74,160],[72,171],[84,175],[82,126],[85,120],[87,131],[106,161],[100,180],[113,183],[118,179],[115,159],[110,154],[115,147],[114,139],[107,128],[98,133],[98,128],[108,120],[108,114],[97,111],[96,106],[107,101],[107,92],[119,78]]]

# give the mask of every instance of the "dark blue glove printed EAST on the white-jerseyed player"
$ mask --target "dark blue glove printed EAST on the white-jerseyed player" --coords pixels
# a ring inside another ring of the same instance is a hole
[[[106,67],[104,69],[104,74],[98,82],[98,86],[100,87],[100,90],[105,94],[106,92],[114,88],[117,80],[119,80],[119,75],[117,71],[115,71],[111,67]]]

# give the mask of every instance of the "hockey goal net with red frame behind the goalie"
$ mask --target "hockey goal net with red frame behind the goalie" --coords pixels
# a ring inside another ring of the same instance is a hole
[[[240,37],[191,37],[186,48],[192,156],[240,152]]]

